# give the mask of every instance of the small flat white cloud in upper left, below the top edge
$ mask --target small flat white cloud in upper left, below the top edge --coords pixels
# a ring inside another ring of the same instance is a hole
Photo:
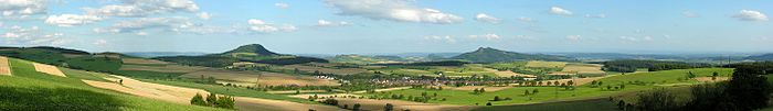
[[[47,19],[45,19],[45,23],[57,26],[74,26],[102,20],[102,18],[96,15],[60,14],[50,15]]]

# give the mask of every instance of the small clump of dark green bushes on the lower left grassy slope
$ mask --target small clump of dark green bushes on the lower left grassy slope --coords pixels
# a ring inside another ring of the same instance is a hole
[[[235,101],[236,100],[231,96],[218,96],[215,93],[210,93],[207,99],[204,99],[204,97],[201,95],[195,93],[195,96],[193,96],[191,99],[191,104],[234,109]]]

